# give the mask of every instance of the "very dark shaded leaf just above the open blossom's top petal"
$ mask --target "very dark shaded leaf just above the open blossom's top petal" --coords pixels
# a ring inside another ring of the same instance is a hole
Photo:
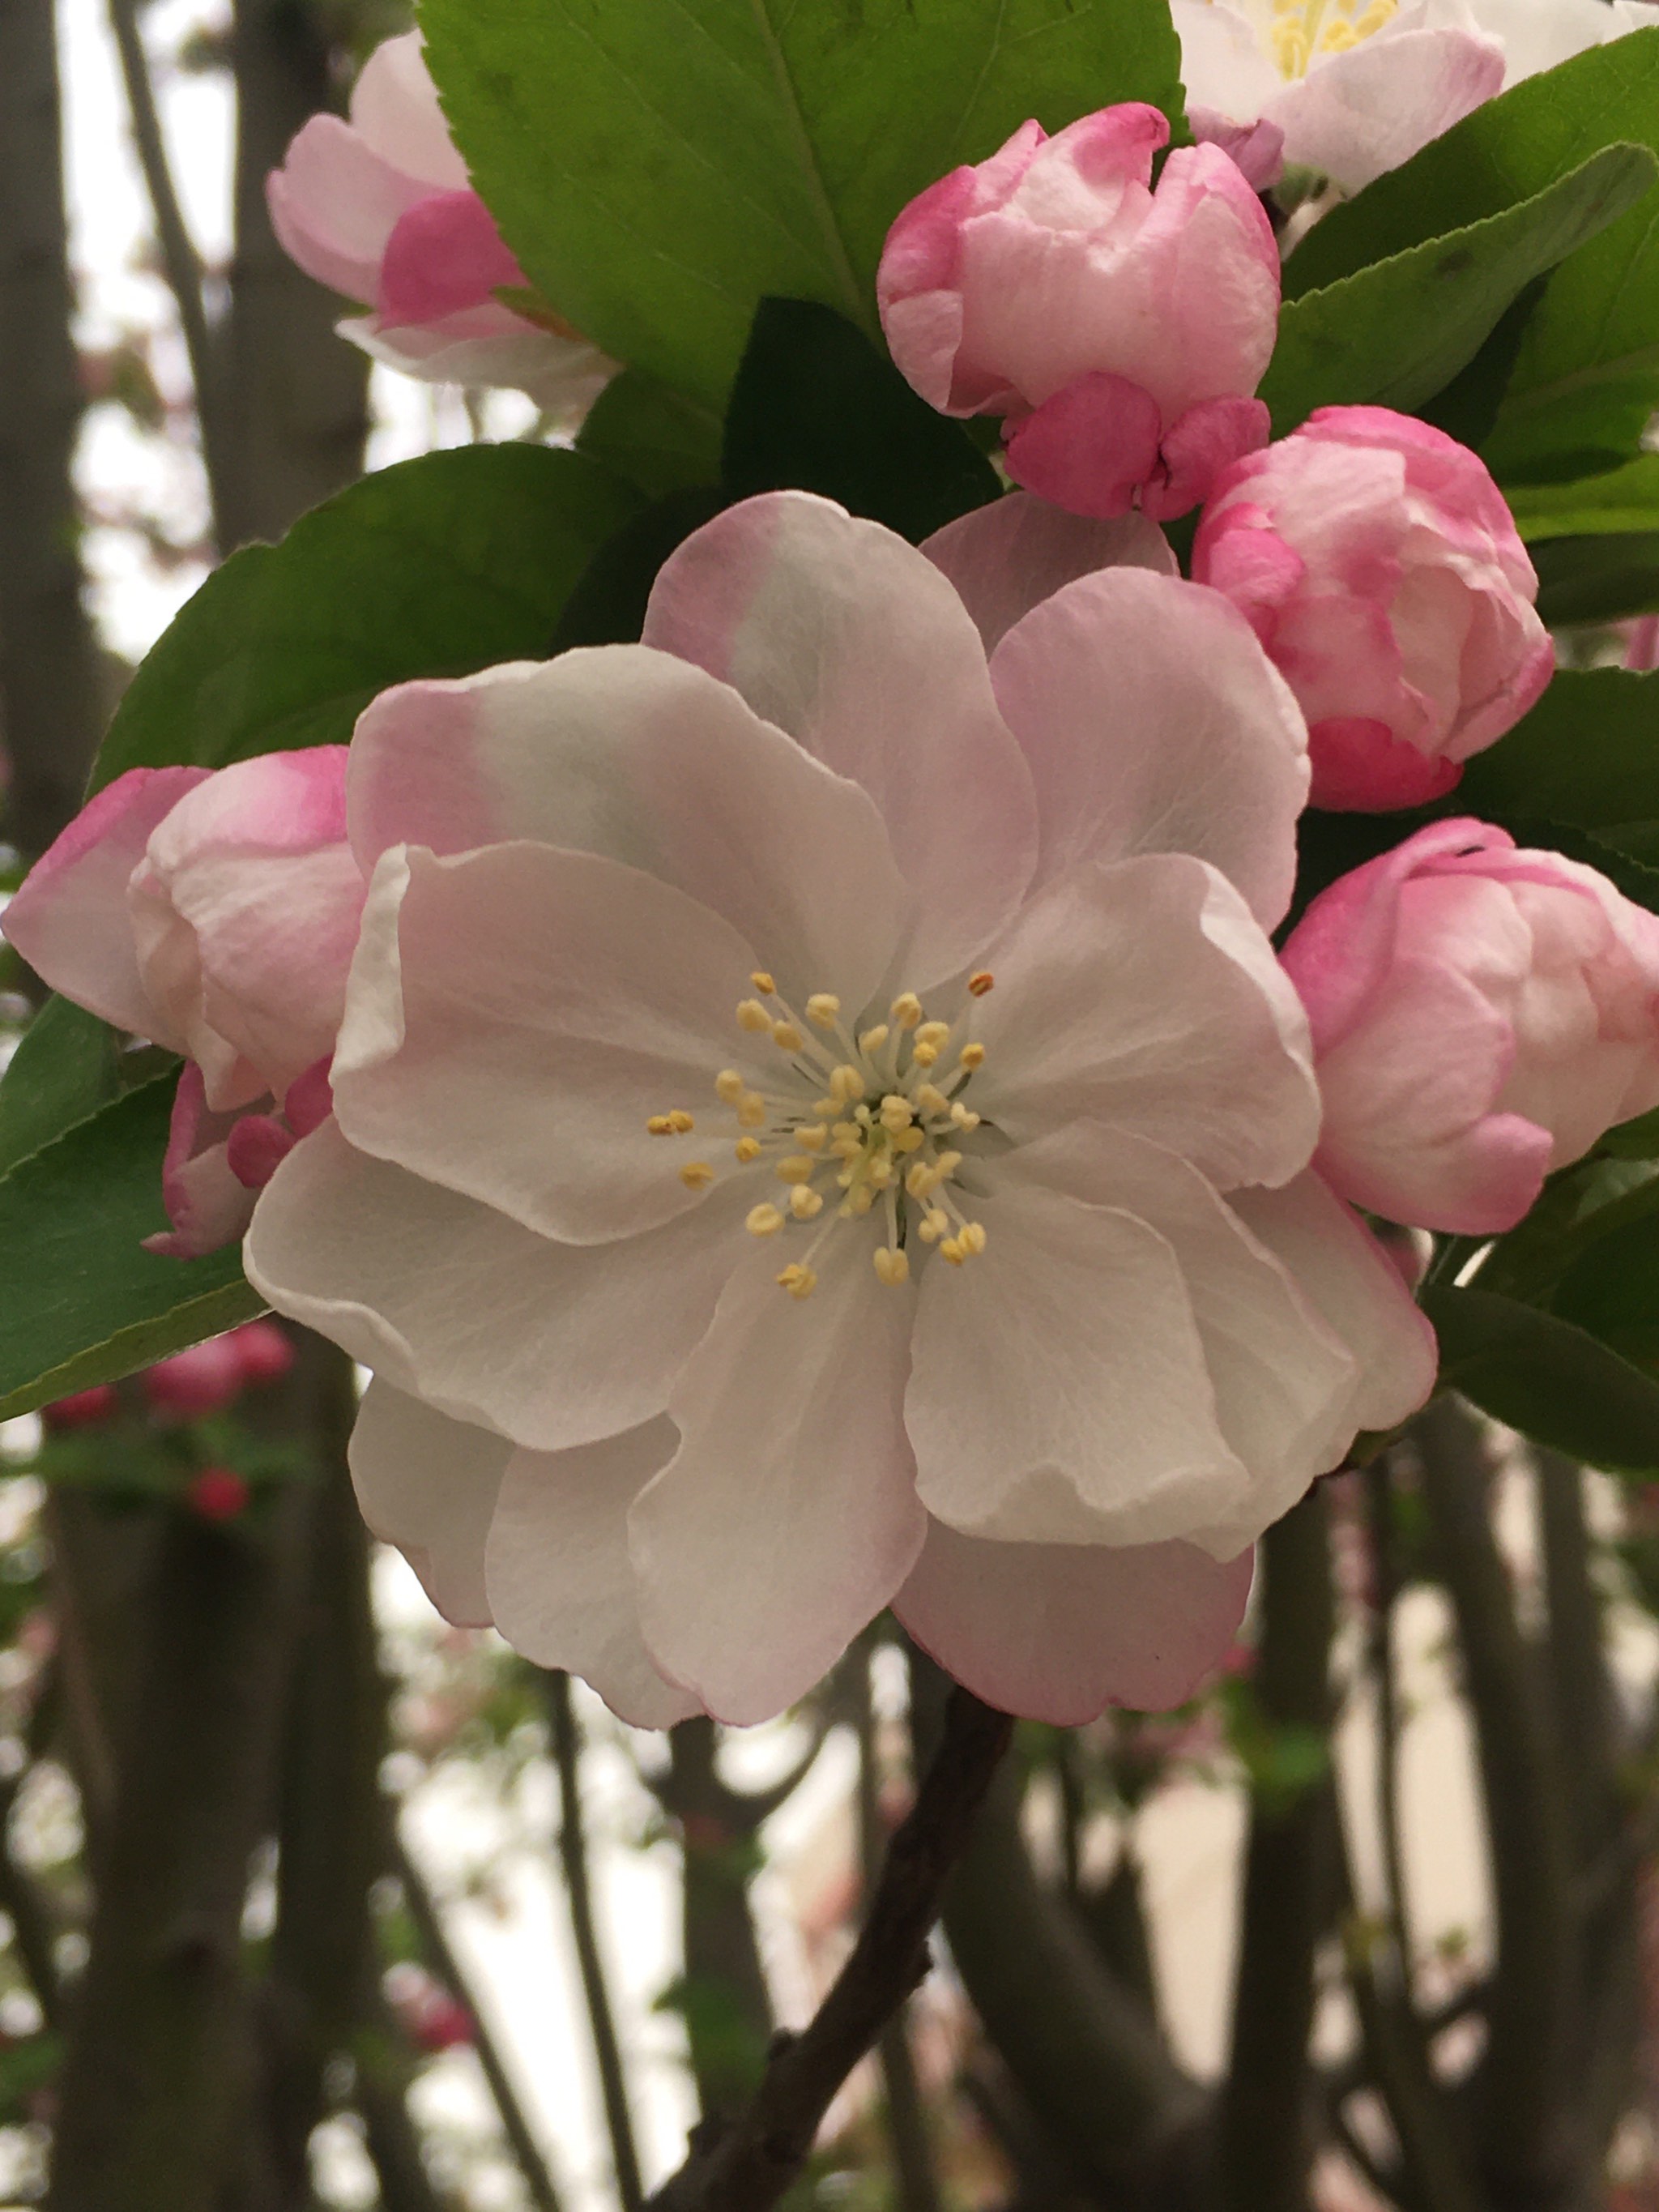
[[[834,307],[768,299],[732,385],[726,489],[818,491],[920,542],[1002,484],[863,330]]]

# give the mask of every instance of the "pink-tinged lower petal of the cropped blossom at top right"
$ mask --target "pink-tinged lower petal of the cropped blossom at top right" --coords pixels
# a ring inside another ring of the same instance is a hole
[[[1400,22],[1316,62],[1265,102],[1261,113],[1285,133],[1287,161],[1358,192],[1504,88],[1500,40]]]

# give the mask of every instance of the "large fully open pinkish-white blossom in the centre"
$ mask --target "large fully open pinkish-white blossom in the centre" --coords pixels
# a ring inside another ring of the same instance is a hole
[[[1011,1710],[1175,1703],[1433,1380],[1307,1170],[1290,690],[1141,518],[929,551],[768,493],[644,644],[352,743],[336,1119],[248,1270],[374,1369],[358,1493],[438,1604],[644,1725],[770,1717],[885,1606]]]

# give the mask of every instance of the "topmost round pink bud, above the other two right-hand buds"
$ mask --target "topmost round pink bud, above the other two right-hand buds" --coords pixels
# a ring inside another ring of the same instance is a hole
[[[1252,394],[1279,323],[1279,248],[1217,146],[1141,102],[1048,137],[1022,124],[887,234],[894,361],[945,414],[1006,418],[1015,482],[1084,515],[1186,513],[1267,436]]]

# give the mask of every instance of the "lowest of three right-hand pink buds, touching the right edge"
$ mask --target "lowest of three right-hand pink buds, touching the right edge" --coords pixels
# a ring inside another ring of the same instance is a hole
[[[1659,1104],[1659,918],[1595,869],[1447,821],[1343,876],[1283,951],[1314,1033],[1316,1166],[1471,1237]]]

